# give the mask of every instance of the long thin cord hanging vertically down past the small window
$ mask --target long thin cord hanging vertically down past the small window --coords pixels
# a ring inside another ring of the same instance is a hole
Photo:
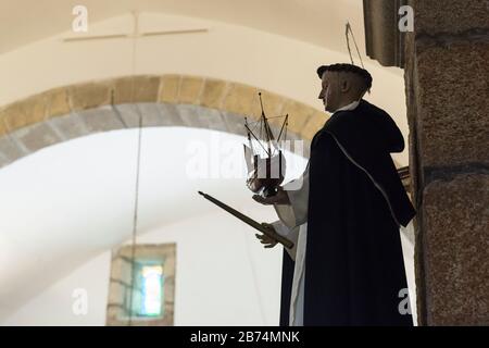
[[[131,80],[131,100],[135,102],[135,74],[136,74],[136,37],[138,30],[138,14],[134,12],[135,16],[135,35],[133,36],[133,62],[131,62],[131,71],[133,71],[133,80]],[[137,105],[136,111],[138,114],[138,151],[137,151],[137,161],[136,161],[136,183],[135,183],[135,199],[134,199],[134,215],[133,215],[133,240],[131,240],[131,249],[130,249],[130,297],[129,297],[129,321],[128,326],[133,325],[133,297],[134,297],[134,287],[135,287],[135,273],[136,273],[136,234],[138,229],[138,207],[139,207],[139,173],[141,165],[141,138],[142,138],[142,115]]]

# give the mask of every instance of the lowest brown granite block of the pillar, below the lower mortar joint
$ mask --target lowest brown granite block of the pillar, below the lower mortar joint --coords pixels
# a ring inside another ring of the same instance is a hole
[[[489,324],[489,174],[436,181],[424,190],[427,321]]]

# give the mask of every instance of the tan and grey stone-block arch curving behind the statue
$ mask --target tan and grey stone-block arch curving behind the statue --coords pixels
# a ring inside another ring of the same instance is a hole
[[[215,78],[142,75],[54,88],[0,108],[0,167],[76,137],[138,126],[188,126],[244,135],[261,114],[258,88]],[[268,116],[289,114],[291,139],[309,144],[326,114],[262,90]],[[271,120],[278,127],[280,119]],[[309,149],[309,146],[304,147]]]

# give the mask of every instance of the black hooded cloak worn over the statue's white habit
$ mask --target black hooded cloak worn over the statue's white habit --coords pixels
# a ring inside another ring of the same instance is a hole
[[[390,152],[402,134],[362,100],[336,112],[311,144],[304,325],[412,325],[400,224],[415,214]],[[293,261],[284,252],[280,325],[288,325]]]

